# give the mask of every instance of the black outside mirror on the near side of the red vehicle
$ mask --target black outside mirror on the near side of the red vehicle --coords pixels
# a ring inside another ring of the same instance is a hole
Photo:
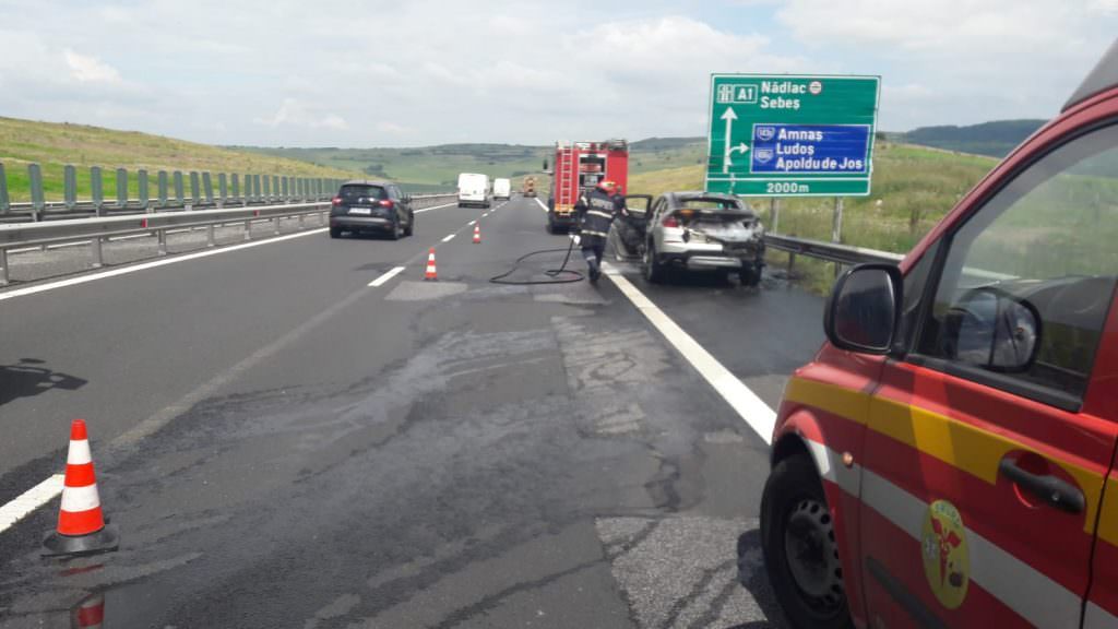
[[[900,327],[904,279],[891,264],[860,264],[843,273],[827,299],[823,329],[832,345],[888,354]]]

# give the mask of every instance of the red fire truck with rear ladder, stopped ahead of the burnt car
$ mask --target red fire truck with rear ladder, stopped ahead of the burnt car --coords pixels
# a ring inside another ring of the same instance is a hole
[[[575,204],[584,190],[608,179],[624,191],[628,182],[628,142],[556,142],[555,171],[548,199],[548,233],[575,225]]]

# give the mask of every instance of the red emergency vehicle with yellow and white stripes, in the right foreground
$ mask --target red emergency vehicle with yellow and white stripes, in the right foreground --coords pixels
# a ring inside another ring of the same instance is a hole
[[[761,538],[796,627],[1118,627],[1118,43],[790,378]]]

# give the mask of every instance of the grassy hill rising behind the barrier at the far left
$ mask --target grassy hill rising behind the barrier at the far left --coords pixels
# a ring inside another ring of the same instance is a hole
[[[0,118],[0,163],[3,163],[12,201],[29,200],[27,163],[42,166],[48,199],[63,195],[63,167],[78,167],[78,196],[88,196],[88,167],[106,169],[105,190],[115,190],[116,168],[150,172],[158,170],[208,170],[299,177],[349,178],[356,173],[277,156],[221,149],[208,144],[114,131],[83,124],[34,122]],[[134,186],[133,180],[133,186]]]

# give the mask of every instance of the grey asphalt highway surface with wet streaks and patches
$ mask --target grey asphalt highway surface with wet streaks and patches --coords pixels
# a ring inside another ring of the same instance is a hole
[[[0,505],[84,417],[122,535],[41,560],[57,498],[0,531],[0,627],[91,600],[111,627],[779,626],[752,426],[822,300],[618,262],[597,287],[490,283],[566,246],[543,224],[518,197],[396,242],[312,229],[0,292]]]

